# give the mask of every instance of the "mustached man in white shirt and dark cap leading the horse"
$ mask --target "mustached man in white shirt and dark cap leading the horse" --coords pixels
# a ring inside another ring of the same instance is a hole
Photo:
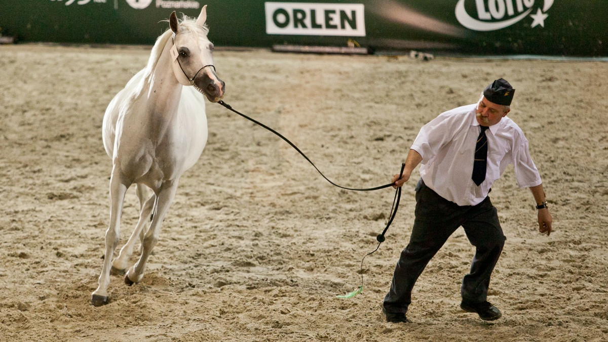
[[[412,288],[424,267],[447,238],[462,226],[475,256],[463,278],[461,309],[482,320],[497,320],[499,309],[488,303],[488,286],[505,236],[488,193],[509,164],[520,188],[528,187],[536,200],[541,233],[551,233],[551,214],[541,177],[528,151],[528,140],[506,114],[515,89],[499,78],[483,91],[476,104],[440,114],[423,126],[410,148],[406,168],[395,188],[410,178],[419,164],[412,235],[395,267],[383,309],[388,322],[407,322]]]

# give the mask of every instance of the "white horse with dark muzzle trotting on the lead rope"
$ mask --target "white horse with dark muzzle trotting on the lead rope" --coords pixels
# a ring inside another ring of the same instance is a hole
[[[132,285],[142,280],[179,177],[196,163],[207,142],[205,100],[197,91],[217,102],[224,96],[224,82],[215,74],[206,20],[206,5],[196,20],[185,17],[178,21],[175,12],[171,13],[170,30],[156,39],[148,65],[106,109],[103,146],[112,159],[110,222],[99,286],[91,296],[94,306],[108,303],[111,269],[114,273],[126,270],[138,236],[141,255],[126,271],[125,282]],[[140,202],[139,222],[112,261],[125,193],[133,183]],[[148,222],[150,227],[145,230]]]

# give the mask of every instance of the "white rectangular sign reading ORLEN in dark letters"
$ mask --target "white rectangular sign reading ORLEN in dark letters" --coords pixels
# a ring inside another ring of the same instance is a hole
[[[365,36],[363,4],[266,2],[269,35]]]

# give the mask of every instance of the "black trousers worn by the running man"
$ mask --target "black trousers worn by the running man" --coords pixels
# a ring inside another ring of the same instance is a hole
[[[490,276],[505,245],[496,208],[486,197],[477,205],[459,206],[424,185],[416,185],[416,211],[412,236],[395,267],[389,293],[384,297],[387,312],[407,312],[412,289],[430,259],[462,226],[475,246],[471,271],[463,278],[460,293],[464,301],[486,301]]]

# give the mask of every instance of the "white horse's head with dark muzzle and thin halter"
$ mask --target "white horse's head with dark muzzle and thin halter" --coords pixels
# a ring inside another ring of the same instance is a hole
[[[173,73],[179,83],[193,86],[209,101],[217,102],[224,97],[224,81],[215,74],[213,44],[207,38],[207,5],[204,5],[196,21],[179,22],[175,12],[169,17],[173,31],[171,60]]]

